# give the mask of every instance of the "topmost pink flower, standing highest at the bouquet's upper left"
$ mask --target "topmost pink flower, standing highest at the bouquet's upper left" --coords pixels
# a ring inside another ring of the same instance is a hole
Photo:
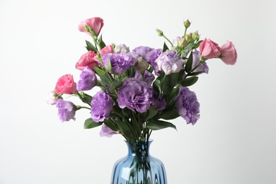
[[[88,18],[79,24],[79,31],[91,35],[84,29],[84,25],[91,27],[95,31],[96,35],[98,35],[100,30],[103,28],[103,19],[100,17]]]

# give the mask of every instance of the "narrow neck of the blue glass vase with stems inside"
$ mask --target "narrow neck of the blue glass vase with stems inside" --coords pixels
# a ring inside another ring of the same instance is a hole
[[[127,142],[127,149],[129,156],[144,157],[149,156],[149,146],[152,140],[149,142]]]

